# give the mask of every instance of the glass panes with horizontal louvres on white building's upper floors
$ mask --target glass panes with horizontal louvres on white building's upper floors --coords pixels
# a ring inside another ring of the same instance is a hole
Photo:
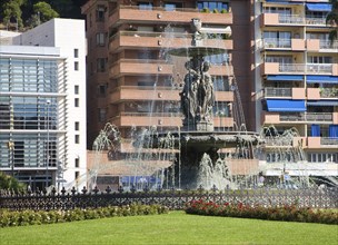
[[[57,167],[59,79],[57,59],[0,58],[0,168]]]

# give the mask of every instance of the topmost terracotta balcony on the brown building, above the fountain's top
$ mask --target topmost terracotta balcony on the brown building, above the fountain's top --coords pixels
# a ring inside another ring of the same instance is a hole
[[[139,9],[137,6],[120,6],[109,16],[108,26],[113,28],[122,22],[133,21],[143,23],[176,23],[191,22],[192,18],[199,18],[208,24],[232,24],[232,13],[200,12],[198,9],[176,8],[175,11],[166,11],[165,8]]]

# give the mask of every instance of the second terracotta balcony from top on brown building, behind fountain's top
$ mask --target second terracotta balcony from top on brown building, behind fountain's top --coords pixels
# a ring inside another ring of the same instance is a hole
[[[145,31],[120,31],[110,38],[109,50],[117,52],[122,48],[142,49],[142,48],[181,48],[191,45],[191,35]],[[205,47],[218,47],[227,50],[232,49],[232,40],[226,39],[206,39]]]

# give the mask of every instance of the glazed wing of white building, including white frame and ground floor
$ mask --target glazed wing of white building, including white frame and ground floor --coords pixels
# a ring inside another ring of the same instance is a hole
[[[58,48],[41,51],[0,49],[0,167],[40,187],[52,184],[62,160],[66,100],[66,59]]]

